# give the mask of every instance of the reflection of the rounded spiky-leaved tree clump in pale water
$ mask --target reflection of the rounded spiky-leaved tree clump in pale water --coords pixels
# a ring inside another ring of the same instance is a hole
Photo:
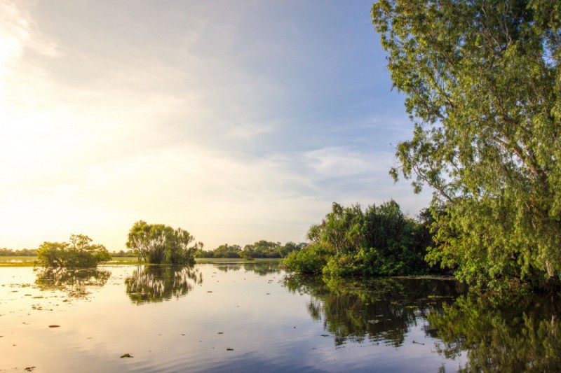
[[[135,304],[163,302],[184,297],[194,285],[203,283],[203,275],[194,267],[164,265],[138,266],[125,279],[126,292]]]

